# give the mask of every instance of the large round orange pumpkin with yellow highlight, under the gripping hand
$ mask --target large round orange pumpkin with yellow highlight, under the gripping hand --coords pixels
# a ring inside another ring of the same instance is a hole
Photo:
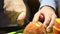
[[[30,22],[24,29],[24,34],[43,34],[44,32],[45,28],[41,22]]]

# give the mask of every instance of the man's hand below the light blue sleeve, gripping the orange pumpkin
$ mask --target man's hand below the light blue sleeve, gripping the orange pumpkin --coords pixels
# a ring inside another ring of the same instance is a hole
[[[44,6],[34,15],[33,22],[37,22],[41,17],[45,18],[43,24],[47,27],[46,29],[50,29],[55,22],[56,14],[51,7]]]

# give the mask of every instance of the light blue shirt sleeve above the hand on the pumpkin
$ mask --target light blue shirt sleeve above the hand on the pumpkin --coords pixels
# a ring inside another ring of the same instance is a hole
[[[56,9],[55,0],[39,0],[39,2],[40,2],[40,8],[47,5]]]

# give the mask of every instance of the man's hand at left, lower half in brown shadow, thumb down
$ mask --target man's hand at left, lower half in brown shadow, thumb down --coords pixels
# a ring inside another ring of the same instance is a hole
[[[19,23],[24,22],[26,5],[23,0],[4,0],[4,10],[12,23],[16,21],[19,21]]]

